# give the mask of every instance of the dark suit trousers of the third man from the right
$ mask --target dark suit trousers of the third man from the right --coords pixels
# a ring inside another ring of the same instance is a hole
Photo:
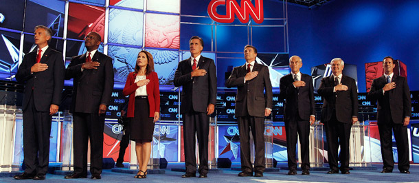
[[[298,109],[297,109],[298,110]],[[285,120],[285,133],[286,133],[286,152],[288,153],[288,169],[297,169],[297,160],[295,158],[295,149],[297,144],[297,132],[299,142],[301,144],[301,168],[303,170],[310,169],[310,156],[309,156],[309,139],[310,136],[310,122],[299,118],[299,114],[290,116]]]

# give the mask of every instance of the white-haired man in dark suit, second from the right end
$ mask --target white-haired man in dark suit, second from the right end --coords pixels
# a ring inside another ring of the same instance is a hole
[[[321,122],[325,125],[328,141],[330,166],[328,174],[339,173],[337,166],[339,145],[341,173],[350,174],[349,138],[352,124],[358,121],[358,92],[355,80],[342,74],[345,63],[341,58],[333,58],[330,65],[332,65],[332,76],[322,78],[317,90],[324,98]]]

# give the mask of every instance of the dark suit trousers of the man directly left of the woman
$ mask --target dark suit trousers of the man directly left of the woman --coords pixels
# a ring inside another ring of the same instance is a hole
[[[74,172],[87,175],[87,144],[90,138],[90,172],[102,173],[104,114],[73,114]]]

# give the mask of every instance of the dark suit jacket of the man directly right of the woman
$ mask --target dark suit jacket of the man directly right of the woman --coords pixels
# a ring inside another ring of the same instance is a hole
[[[216,105],[217,97],[217,76],[214,61],[201,55],[198,65],[199,69],[205,69],[205,76],[191,78],[192,65],[190,58],[179,62],[174,73],[174,86],[182,86],[181,114],[190,109],[198,112],[207,112],[207,106],[211,103]]]

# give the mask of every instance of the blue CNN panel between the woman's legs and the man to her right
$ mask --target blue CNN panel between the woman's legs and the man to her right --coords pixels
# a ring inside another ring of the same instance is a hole
[[[178,143],[180,142],[178,131],[177,125],[155,125],[152,157],[166,158],[168,162],[177,162]],[[157,143],[159,138],[160,144]]]

